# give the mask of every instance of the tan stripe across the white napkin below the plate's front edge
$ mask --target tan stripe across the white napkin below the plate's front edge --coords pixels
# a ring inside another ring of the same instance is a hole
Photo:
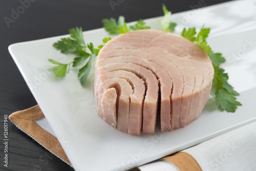
[[[171,156],[162,158],[170,163],[173,163],[181,171],[202,171],[197,160],[188,153],[179,152]]]

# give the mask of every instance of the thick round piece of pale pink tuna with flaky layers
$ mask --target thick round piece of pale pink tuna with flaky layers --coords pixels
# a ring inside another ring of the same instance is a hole
[[[98,114],[113,126],[125,124],[119,130],[133,135],[139,135],[141,128],[143,133],[154,133],[158,111],[161,131],[197,119],[214,75],[211,60],[201,48],[183,37],[156,30],[132,31],[110,40],[100,50],[95,69]],[[130,84],[132,93],[127,85],[117,88],[104,83],[114,78]],[[120,91],[130,95],[126,98],[128,113],[119,108]],[[125,122],[118,123],[119,112],[121,116],[125,113]]]

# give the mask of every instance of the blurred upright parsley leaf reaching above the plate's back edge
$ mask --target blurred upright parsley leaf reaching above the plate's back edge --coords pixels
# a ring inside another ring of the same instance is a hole
[[[163,31],[166,31],[166,32],[174,32],[177,24],[170,21],[170,15],[172,13],[167,10],[167,8],[164,4],[162,4],[162,8],[163,8],[163,13],[164,13],[164,17],[161,20],[162,29],[163,29]]]

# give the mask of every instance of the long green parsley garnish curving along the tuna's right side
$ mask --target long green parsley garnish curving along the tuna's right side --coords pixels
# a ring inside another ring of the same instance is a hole
[[[200,29],[196,32],[196,28],[183,29],[181,35],[186,39],[193,41],[196,45],[207,52],[211,59],[212,66],[214,66],[214,79],[212,80],[211,91],[215,94],[216,104],[221,111],[236,112],[237,106],[242,105],[238,102],[235,96],[239,93],[233,90],[233,87],[227,82],[228,74],[224,69],[220,68],[221,63],[225,62],[225,58],[221,53],[212,52],[209,45],[207,45],[206,38],[210,32],[209,28]],[[197,36],[195,36],[197,34]]]

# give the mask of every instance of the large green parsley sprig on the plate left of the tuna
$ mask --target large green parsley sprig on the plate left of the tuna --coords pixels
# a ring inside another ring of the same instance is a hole
[[[86,83],[90,70],[92,68],[92,62],[98,55],[99,50],[104,46],[104,44],[111,38],[104,38],[103,45],[98,46],[95,49],[93,44],[86,45],[82,35],[82,28],[73,28],[69,30],[70,37],[61,38],[59,41],[53,44],[53,47],[60,50],[63,54],[75,54],[76,57],[70,63],[60,63],[53,59],[48,59],[51,63],[56,65],[53,70],[56,77],[63,77],[69,72],[70,67],[81,67],[78,71],[78,78],[83,86]]]

